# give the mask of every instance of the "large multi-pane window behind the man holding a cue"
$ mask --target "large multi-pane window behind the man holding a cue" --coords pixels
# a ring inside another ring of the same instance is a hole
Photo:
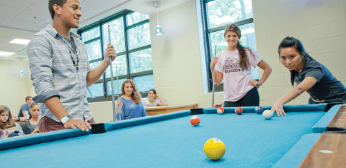
[[[138,91],[142,93],[154,88],[149,16],[138,12],[124,10],[78,30],[88,51],[91,69],[100,65],[104,59],[104,51],[109,43],[108,26],[111,44],[117,53],[116,59],[112,62],[114,94],[121,95],[122,82],[127,79],[134,80]],[[87,94],[89,102],[111,100],[110,67],[104,71],[98,82],[88,87]]]

